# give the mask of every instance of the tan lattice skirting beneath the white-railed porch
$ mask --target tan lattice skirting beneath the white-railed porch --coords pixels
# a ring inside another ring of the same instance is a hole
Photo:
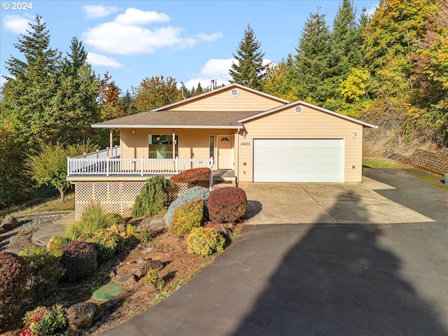
[[[130,217],[135,197],[139,195],[146,181],[85,181],[75,182],[75,217],[92,204],[99,204],[105,212]],[[167,203],[175,200],[193,186],[209,188],[209,181],[176,183],[167,195]]]

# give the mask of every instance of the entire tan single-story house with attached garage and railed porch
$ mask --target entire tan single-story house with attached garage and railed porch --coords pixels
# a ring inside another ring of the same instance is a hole
[[[68,179],[76,193],[103,204],[97,195],[110,199],[120,194],[133,202],[149,176],[190,167],[231,172],[237,183],[360,182],[363,128],[377,126],[231,84],[92,127],[109,128],[111,139],[113,130],[119,130],[119,158],[111,153],[107,162],[89,166],[99,169],[93,172],[69,158]],[[156,162],[158,168],[150,169]],[[128,208],[115,212],[124,214]]]

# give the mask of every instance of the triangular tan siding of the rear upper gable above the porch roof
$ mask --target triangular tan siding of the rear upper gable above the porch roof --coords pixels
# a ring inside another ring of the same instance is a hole
[[[237,97],[232,97],[230,90],[174,106],[172,111],[267,111],[284,103],[261,94],[239,90]]]

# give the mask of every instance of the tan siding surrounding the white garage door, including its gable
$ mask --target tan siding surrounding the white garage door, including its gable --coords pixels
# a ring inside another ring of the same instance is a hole
[[[362,179],[363,127],[349,120],[303,106],[302,114],[294,109],[280,111],[244,124],[246,139],[239,140],[239,181],[252,181],[253,139],[255,138],[337,138],[345,139],[346,182]],[[356,138],[353,139],[353,132]],[[241,146],[242,142],[251,146]],[[246,165],[244,165],[246,162]],[[355,166],[353,169],[352,166]]]

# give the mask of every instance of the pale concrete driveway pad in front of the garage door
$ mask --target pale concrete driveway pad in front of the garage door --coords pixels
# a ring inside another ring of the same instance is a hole
[[[363,183],[251,183],[246,224],[391,224],[433,219],[377,193],[395,189],[364,177]]]

